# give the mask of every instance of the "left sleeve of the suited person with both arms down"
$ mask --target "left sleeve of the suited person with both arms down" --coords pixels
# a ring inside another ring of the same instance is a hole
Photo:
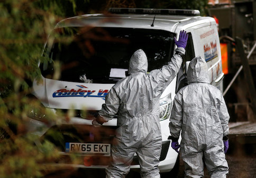
[[[182,103],[180,101],[182,101],[181,94],[177,93],[173,101],[169,123],[171,136],[175,138],[179,137],[182,126]]]

